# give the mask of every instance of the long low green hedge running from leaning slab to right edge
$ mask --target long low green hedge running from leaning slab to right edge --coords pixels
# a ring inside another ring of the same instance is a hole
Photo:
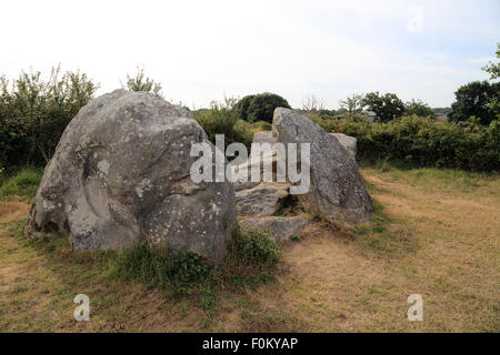
[[[317,120],[328,132],[358,139],[358,158],[392,160],[417,166],[472,171],[500,170],[500,124],[434,122],[406,116],[388,123],[350,119]]]

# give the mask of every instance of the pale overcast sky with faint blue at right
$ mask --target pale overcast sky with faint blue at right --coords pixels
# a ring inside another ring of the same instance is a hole
[[[498,0],[12,0],[0,14],[0,74],[61,62],[104,93],[143,65],[191,108],[264,91],[338,108],[374,90],[446,106],[488,79],[480,68],[500,41]]]

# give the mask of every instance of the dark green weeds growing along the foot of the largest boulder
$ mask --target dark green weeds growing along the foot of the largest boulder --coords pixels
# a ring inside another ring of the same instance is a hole
[[[166,287],[172,296],[197,294],[200,305],[209,307],[217,301],[218,285],[227,288],[272,280],[280,255],[279,244],[266,234],[243,235],[237,229],[219,267],[197,254],[142,242],[118,255],[112,275]]]

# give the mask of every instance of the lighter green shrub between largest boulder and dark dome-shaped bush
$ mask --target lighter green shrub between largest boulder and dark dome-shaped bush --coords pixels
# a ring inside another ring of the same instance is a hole
[[[192,114],[212,143],[216,143],[216,134],[224,134],[226,146],[233,142],[250,146],[252,132],[249,123],[240,120],[233,110],[234,103],[236,99],[226,98],[223,102],[214,101],[210,109],[193,111]]]

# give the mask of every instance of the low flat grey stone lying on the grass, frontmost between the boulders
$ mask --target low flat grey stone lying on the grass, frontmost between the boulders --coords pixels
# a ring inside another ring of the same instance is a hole
[[[258,217],[248,219],[240,223],[242,232],[266,232],[277,242],[284,242],[291,236],[302,232],[308,225],[308,219],[304,216],[294,217]]]

